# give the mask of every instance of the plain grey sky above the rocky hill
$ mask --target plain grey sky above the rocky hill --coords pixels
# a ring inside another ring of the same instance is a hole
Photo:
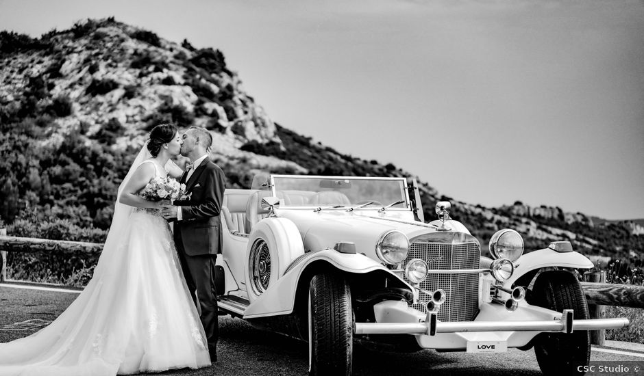
[[[644,218],[644,2],[0,0],[222,51],[273,121],[484,206]],[[425,203],[433,204],[433,203]]]

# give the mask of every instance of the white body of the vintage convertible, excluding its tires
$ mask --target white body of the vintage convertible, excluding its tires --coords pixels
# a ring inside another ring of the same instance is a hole
[[[293,189],[314,187],[317,182],[317,190]],[[449,216],[430,224],[419,220],[422,208],[417,188],[405,178],[275,175],[253,185],[261,189],[225,192],[223,250],[217,260],[225,281],[218,285],[223,290],[218,291],[219,309],[253,324],[308,340],[314,320],[311,280],[325,274],[346,281],[353,314],[351,335],[361,342],[391,345],[399,340],[408,347],[412,339],[418,349],[499,352],[511,347],[528,349],[544,332],[628,325],[626,319],[573,321],[567,311],[534,306],[523,297],[509,310],[504,302],[517,293],[513,289],[525,286],[530,290],[542,271],[589,269],[593,264],[577,252],[544,248],[513,261],[510,278],[495,280],[489,270],[492,260],[481,256],[478,240],[463,224]],[[391,202],[356,208],[373,200],[358,197],[369,185],[380,192],[381,196],[373,193],[376,198]],[[383,208],[397,200],[392,197],[398,193],[402,202]],[[325,203],[327,196],[332,200]],[[263,206],[270,209],[262,209],[262,198],[268,198]],[[273,205],[269,205],[271,198]],[[409,239],[408,256],[399,265],[387,265],[377,252],[379,241],[391,231]],[[428,277],[417,284],[404,271],[409,254],[421,258],[430,269]],[[452,265],[462,265],[433,266],[450,257]],[[437,269],[445,273],[431,273]],[[445,302],[432,304],[432,293],[438,289],[445,291]],[[315,359],[316,351],[310,351],[311,373],[323,374],[316,370],[319,364],[320,370],[327,369],[325,360]]]

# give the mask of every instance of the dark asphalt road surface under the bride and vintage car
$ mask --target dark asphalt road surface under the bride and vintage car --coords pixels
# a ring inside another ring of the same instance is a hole
[[[75,293],[26,290],[0,286],[0,343],[32,334],[46,325],[75,299]],[[23,323],[28,321],[31,325]],[[240,319],[220,317],[219,362],[197,371],[179,370],[163,375],[306,375],[306,343],[256,330]],[[619,349],[593,348],[591,361],[637,361],[644,366],[644,346],[610,343]],[[626,346],[625,346],[626,345]],[[626,347],[631,347],[630,349]],[[613,353],[606,351],[621,351]],[[380,353],[357,349],[354,375],[541,375],[534,351],[510,349],[507,353]],[[616,375],[619,373],[616,373]],[[644,376],[644,370],[641,371]],[[589,373],[590,375],[590,373]],[[609,375],[602,373],[602,375]],[[634,374],[636,375],[636,374]]]

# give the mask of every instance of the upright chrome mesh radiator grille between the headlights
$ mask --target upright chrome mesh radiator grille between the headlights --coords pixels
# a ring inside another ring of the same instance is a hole
[[[476,243],[422,243],[410,245],[404,262],[412,258],[425,260],[429,269],[478,269],[481,251]],[[420,283],[419,287],[428,291],[442,288],[445,291],[445,303],[438,310],[440,321],[471,321],[478,311],[478,273],[467,274],[432,274]],[[417,304],[412,307],[427,312],[429,297],[421,293]]]

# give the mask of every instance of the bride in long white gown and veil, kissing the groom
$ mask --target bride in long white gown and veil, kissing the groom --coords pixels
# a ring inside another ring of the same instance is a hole
[[[137,196],[168,170],[178,178],[182,170],[170,159],[181,144],[175,126],[152,129],[119,187],[92,280],[49,326],[0,343],[0,376],[127,375],[210,365],[160,203]]]

